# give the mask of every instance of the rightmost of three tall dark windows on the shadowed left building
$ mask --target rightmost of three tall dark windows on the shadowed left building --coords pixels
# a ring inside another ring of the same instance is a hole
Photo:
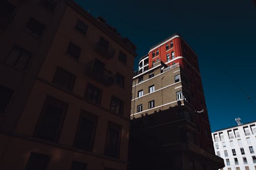
[[[106,132],[105,156],[119,157],[121,129],[119,125],[109,122],[108,131]]]

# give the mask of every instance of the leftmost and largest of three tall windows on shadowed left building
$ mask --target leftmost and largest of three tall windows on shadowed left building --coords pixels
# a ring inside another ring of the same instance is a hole
[[[48,96],[39,117],[35,136],[40,139],[57,141],[68,104]]]

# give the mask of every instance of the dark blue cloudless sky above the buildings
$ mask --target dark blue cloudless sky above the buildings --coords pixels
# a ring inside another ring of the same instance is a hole
[[[252,0],[83,1],[85,10],[137,45],[179,33],[197,53],[211,131],[256,120],[256,6]],[[250,96],[250,99],[247,98]]]

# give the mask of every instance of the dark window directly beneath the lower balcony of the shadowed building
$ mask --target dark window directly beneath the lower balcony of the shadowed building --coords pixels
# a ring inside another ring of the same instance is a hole
[[[88,83],[86,88],[86,94],[84,94],[84,98],[86,98],[90,102],[100,104],[101,94],[102,94],[101,89]]]

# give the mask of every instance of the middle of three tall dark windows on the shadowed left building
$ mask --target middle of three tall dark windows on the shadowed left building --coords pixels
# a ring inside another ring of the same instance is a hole
[[[92,151],[97,121],[98,116],[90,114],[84,110],[81,111],[74,148]]]

